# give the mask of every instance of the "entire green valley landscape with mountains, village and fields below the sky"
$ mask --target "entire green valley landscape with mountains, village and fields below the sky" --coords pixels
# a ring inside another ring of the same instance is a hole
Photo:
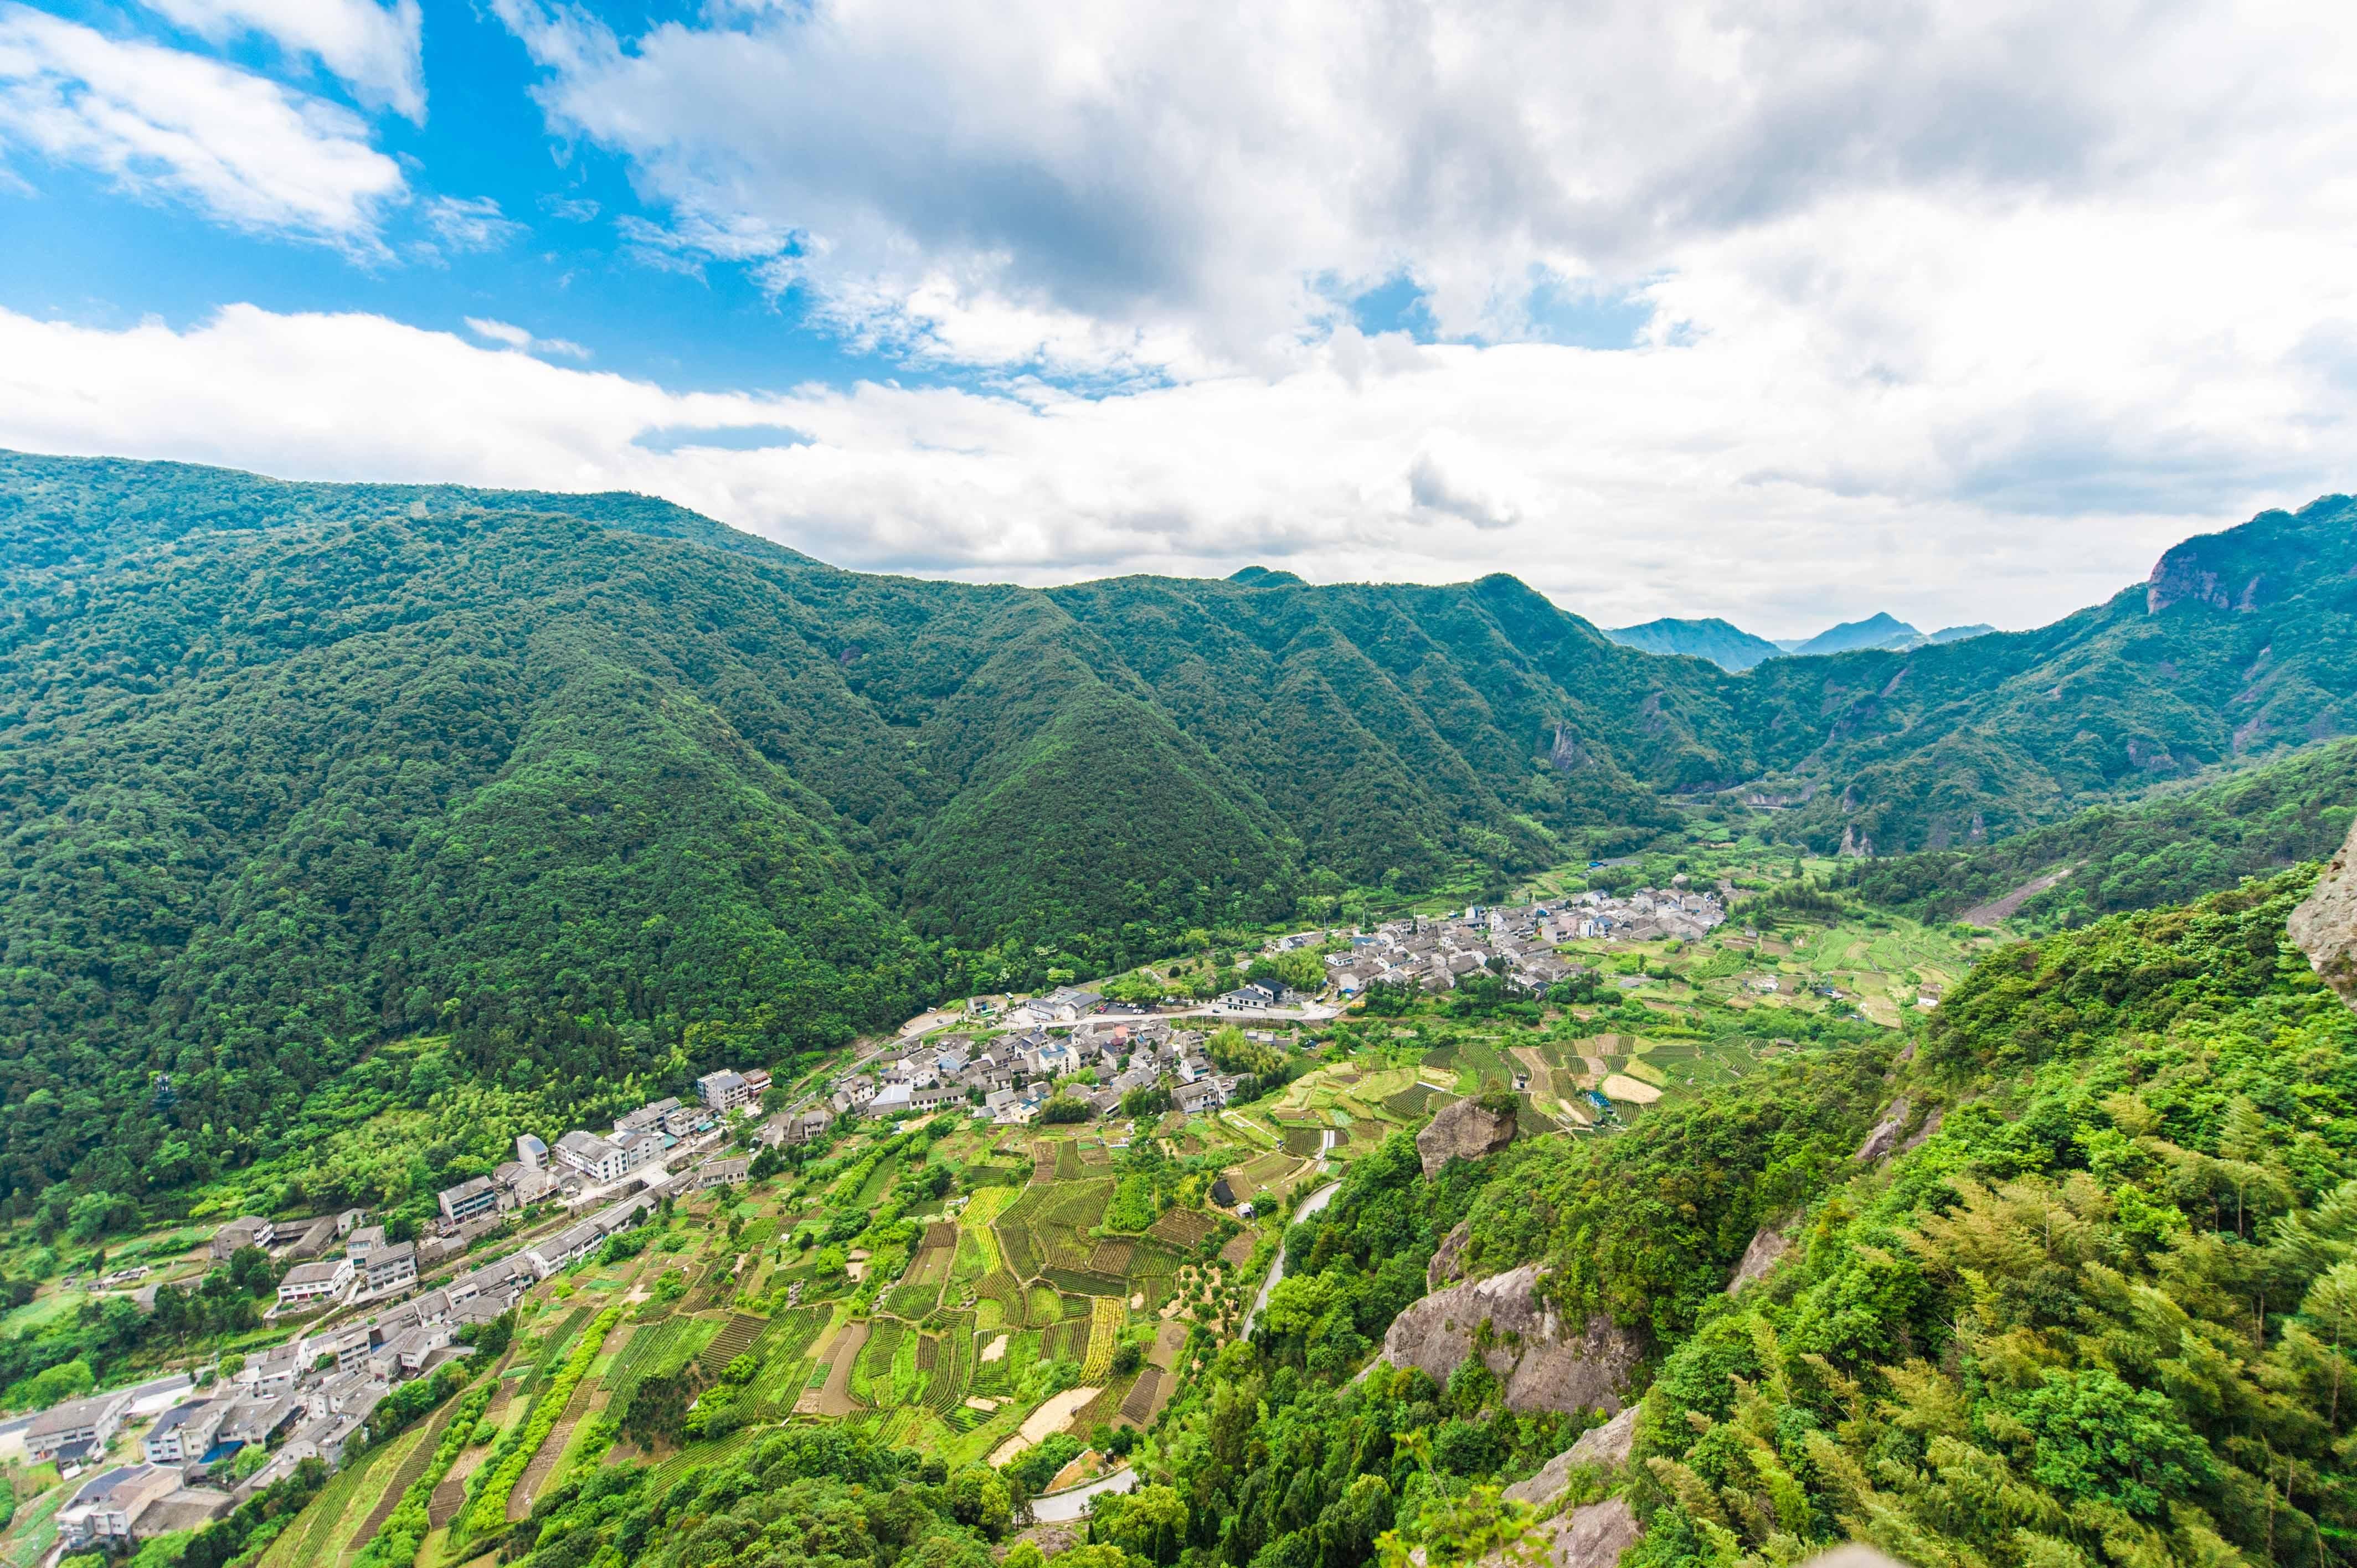
[[[5,1563],[2357,1528],[2350,1014],[2284,938],[2357,806],[2336,498],[1730,674],[1504,578],[0,481]],[[2048,1386],[2140,1412],[2166,1509],[2039,1469]]]

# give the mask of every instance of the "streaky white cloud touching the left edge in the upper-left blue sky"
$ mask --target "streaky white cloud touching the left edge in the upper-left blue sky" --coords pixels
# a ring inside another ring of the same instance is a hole
[[[379,255],[401,165],[361,120],[250,71],[0,5],[0,146],[196,203],[240,229]]]

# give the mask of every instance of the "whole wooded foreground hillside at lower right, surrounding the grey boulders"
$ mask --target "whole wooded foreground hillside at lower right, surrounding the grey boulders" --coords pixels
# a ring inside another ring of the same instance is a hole
[[[1867,1540],[1956,1568],[2341,1561],[2357,1526],[2357,1016],[2284,943],[2312,868],[2008,948],[1909,1052],[1768,1066],[1610,1139],[1424,1177],[1405,1134],[1287,1240],[1268,1330],[1143,1464],[1181,1563],[1473,1561],[1572,1427],[1365,1358],[1442,1236],[1643,1346],[1626,1568]],[[1930,1120],[1928,1113],[1940,1113]],[[1855,1158],[1879,1115],[1923,1132]],[[1730,1299],[1758,1233],[1789,1257]],[[1282,1299],[1277,1299],[1282,1297]],[[1574,1316],[1577,1320],[1577,1316]]]

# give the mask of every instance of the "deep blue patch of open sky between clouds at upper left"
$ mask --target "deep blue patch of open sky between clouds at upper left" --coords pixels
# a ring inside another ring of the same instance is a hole
[[[139,7],[42,9],[113,35],[205,50],[203,38]],[[606,9],[660,19],[693,7]],[[38,238],[0,245],[0,299],[87,323],[160,316],[189,325],[229,299],[273,311],[384,311],[448,330],[464,330],[469,316],[495,318],[542,340],[596,344],[601,368],[679,389],[851,384],[910,370],[811,330],[794,295],[771,295],[740,269],[688,274],[634,259],[615,219],[660,224],[662,212],[636,200],[625,160],[549,134],[519,38],[474,5],[434,5],[424,24],[424,123],[368,116],[375,146],[412,170],[420,196],[384,229],[391,257],[354,259],[330,245],[210,224],[172,196],[125,198],[87,170],[16,160],[21,184],[0,189],[0,231]],[[266,35],[247,31],[205,52],[365,113],[349,85],[290,61]],[[424,207],[436,196],[490,198],[514,229],[497,243],[453,245]]]

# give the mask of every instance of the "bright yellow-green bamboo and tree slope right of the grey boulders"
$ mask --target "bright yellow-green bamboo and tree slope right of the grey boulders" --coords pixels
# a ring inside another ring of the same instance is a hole
[[[2282,943],[2305,884],[1959,988],[1916,1078],[1942,1132],[1664,1361],[1633,1568],[2357,1554],[2357,1019]]]

